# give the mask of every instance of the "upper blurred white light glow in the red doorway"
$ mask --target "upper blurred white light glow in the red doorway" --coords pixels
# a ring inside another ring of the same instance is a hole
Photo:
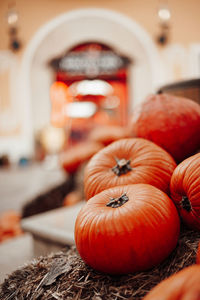
[[[76,95],[109,95],[113,92],[112,86],[103,80],[82,80],[70,86]]]

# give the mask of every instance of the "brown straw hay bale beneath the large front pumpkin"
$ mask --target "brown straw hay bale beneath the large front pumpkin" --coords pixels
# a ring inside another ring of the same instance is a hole
[[[73,246],[14,271],[0,286],[0,299],[139,300],[162,279],[195,263],[199,240],[200,232],[183,228],[176,249],[163,263],[149,271],[123,276],[96,272]]]

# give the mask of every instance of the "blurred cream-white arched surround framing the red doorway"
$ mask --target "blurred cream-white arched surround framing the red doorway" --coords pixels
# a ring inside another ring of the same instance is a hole
[[[64,13],[36,32],[25,50],[21,92],[26,118],[26,141],[33,150],[34,132],[49,120],[52,72],[47,61],[76,44],[95,40],[108,44],[135,61],[130,68],[131,108],[160,84],[160,58],[150,36],[128,17],[105,9],[80,9]],[[32,143],[31,143],[32,141]]]

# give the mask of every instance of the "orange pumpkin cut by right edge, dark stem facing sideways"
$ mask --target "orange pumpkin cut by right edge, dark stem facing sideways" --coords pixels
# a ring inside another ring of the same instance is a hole
[[[184,223],[200,230],[200,153],[188,157],[176,167],[170,192]]]

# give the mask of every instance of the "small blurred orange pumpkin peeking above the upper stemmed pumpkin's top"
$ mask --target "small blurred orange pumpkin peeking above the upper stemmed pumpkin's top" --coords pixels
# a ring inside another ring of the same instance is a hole
[[[102,143],[104,146],[122,138],[129,137],[128,129],[117,125],[95,127],[89,134],[89,139]]]

